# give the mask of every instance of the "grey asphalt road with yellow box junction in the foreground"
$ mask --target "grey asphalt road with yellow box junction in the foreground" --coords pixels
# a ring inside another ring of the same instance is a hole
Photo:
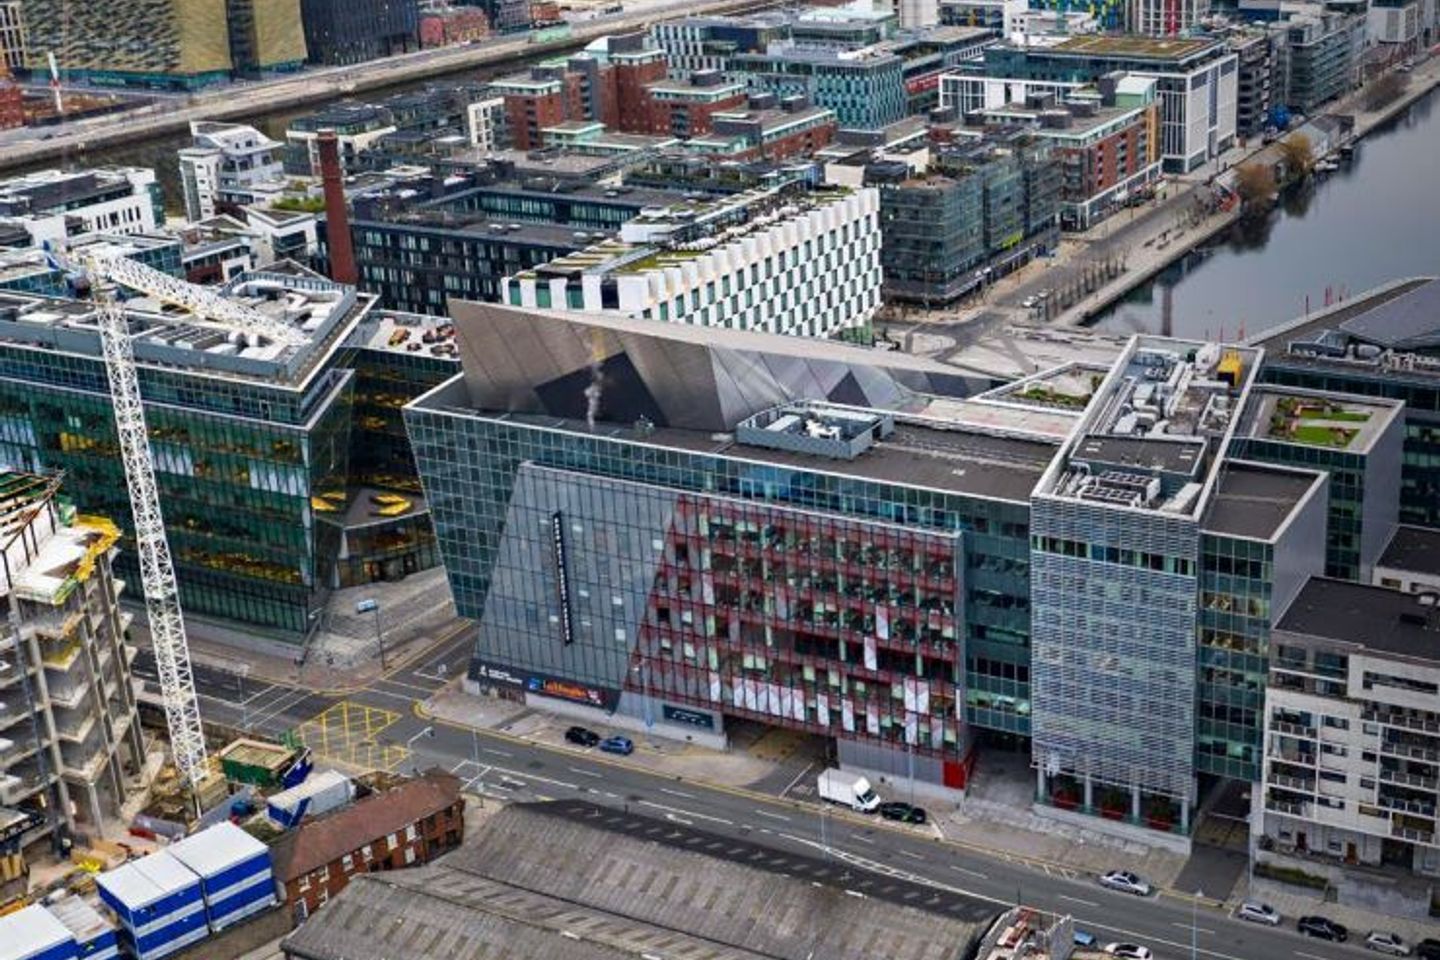
[[[634,809],[720,836],[829,856],[878,874],[942,887],[984,900],[996,910],[1024,902],[1050,913],[1068,913],[1077,927],[1100,941],[1140,943],[1162,960],[1369,956],[1354,943],[1329,944],[1302,937],[1295,931],[1293,917],[1279,928],[1269,928],[1237,921],[1184,897],[1139,898],[1112,892],[1092,877],[948,842],[933,825],[894,825],[815,803],[662,776],[593,748],[552,747],[490,730],[426,721],[413,705],[464,669],[468,649],[469,635],[461,632],[344,699],[397,714],[376,740],[409,750],[400,770],[441,766],[459,776],[471,793],[484,797],[482,802],[585,799]],[[154,661],[148,652],[140,653],[134,671],[154,689]],[[204,662],[194,665],[194,676],[203,715],[219,723],[246,724],[253,733],[271,737],[341,699],[242,676]],[[652,747],[644,737],[635,741],[636,759],[642,761],[642,754]],[[1364,931],[1352,931],[1352,937],[1355,934],[1364,936]]]

